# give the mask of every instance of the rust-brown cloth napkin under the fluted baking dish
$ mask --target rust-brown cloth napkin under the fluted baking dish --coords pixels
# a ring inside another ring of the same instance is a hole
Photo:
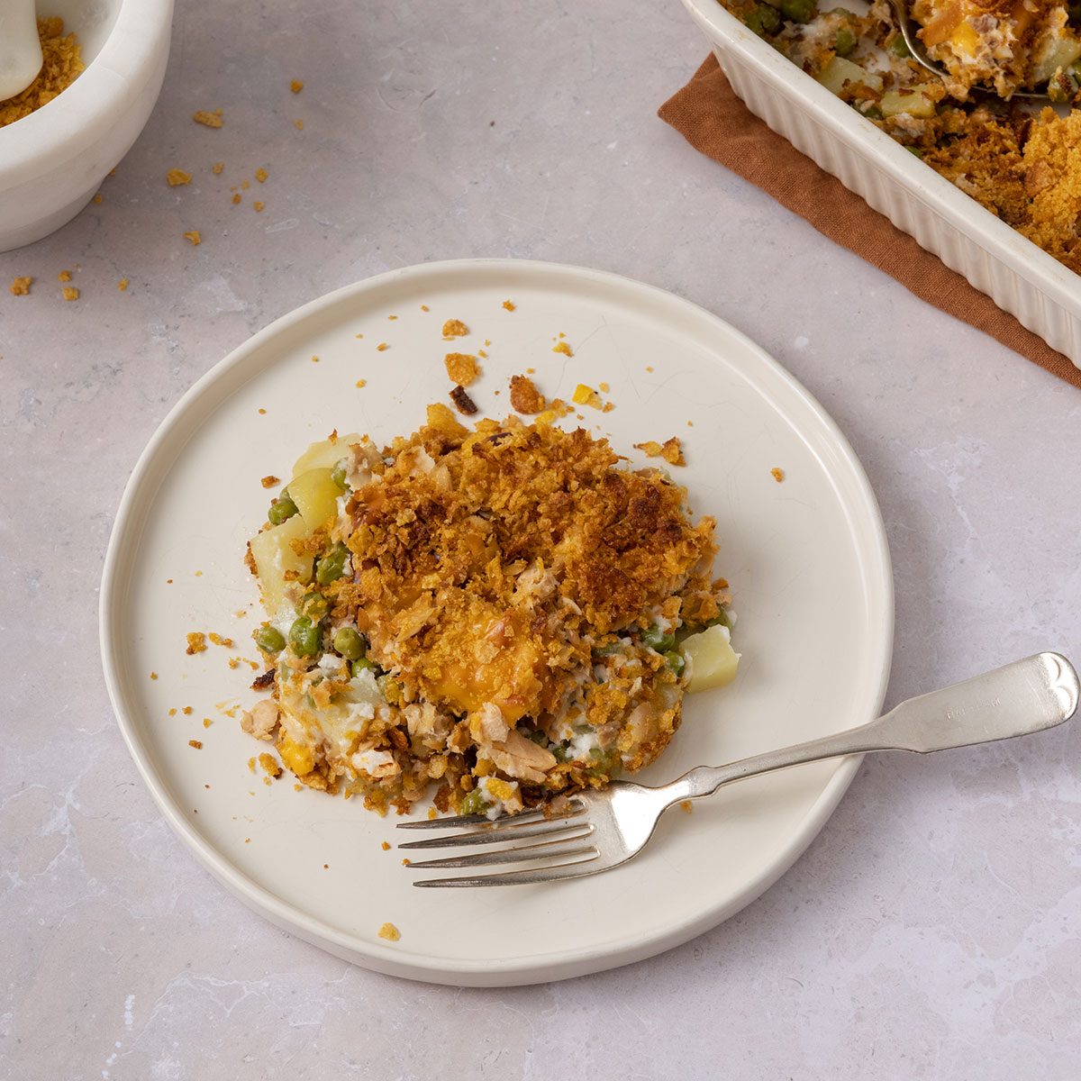
[[[658,116],[696,149],[773,196],[921,301],[964,320],[1081,388],[1081,369],[925,252],[839,179],[772,132],[736,97],[710,53]]]

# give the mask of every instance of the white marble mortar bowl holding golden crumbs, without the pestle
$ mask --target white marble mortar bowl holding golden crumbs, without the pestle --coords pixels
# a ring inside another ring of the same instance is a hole
[[[0,128],[0,252],[71,221],[128,152],[161,91],[173,0],[38,0],[75,31],[85,70]]]

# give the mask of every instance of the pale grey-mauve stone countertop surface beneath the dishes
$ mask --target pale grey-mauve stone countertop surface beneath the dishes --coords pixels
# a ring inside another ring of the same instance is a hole
[[[1081,655],[1081,393],[657,120],[705,54],[677,0],[192,0],[178,4],[158,107],[103,202],[0,255],[0,628],[14,677],[0,1075],[1077,1077],[1076,724],[867,760],[780,882],[667,955],[455,990],[352,967],[218,888],[162,822],[114,721],[102,559],[170,406],[299,303],[470,255],[660,285],[810,388],[885,517],[889,703],[1041,649]],[[293,78],[306,83],[296,96]],[[189,119],[218,107],[221,131]],[[230,185],[259,165],[269,178],[232,206]],[[197,174],[191,186],[164,184],[173,166]],[[59,297],[65,268],[77,303]],[[30,296],[8,295],[16,275],[38,280]]]

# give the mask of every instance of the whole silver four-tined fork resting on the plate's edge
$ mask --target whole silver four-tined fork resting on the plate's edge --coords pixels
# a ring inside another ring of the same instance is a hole
[[[413,883],[418,886],[520,885],[584,878],[637,856],[668,808],[711,796],[733,780],[843,755],[872,750],[926,753],[1041,732],[1073,716],[1078,693],[1078,676],[1069,660],[1058,653],[1040,653],[945,690],[909,698],[878,720],[849,732],[729,765],[700,765],[659,788],[614,780],[602,791],[578,792],[555,813],[550,808],[537,808],[494,822],[481,815],[459,815],[402,823],[399,829],[476,828],[398,848],[415,852],[481,846],[480,852],[468,855],[411,862],[411,870],[531,865],[483,875],[421,879]]]

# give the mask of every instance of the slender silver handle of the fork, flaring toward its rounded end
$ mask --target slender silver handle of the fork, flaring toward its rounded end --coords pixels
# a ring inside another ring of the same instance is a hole
[[[667,804],[711,796],[722,785],[790,765],[872,750],[927,753],[949,747],[1009,739],[1062,724],[1078,706],[1073,666],[1058,653],[1025,660],[900,703],[877,720],[848,732],[756,755],[728,765],[702,765],[665,786]]]

